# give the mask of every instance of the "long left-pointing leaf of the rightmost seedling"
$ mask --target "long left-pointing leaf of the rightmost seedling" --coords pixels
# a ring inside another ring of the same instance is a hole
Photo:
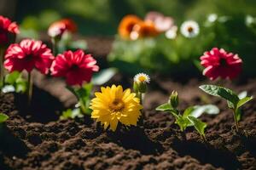
[[[213,96],[224,98],[230,101],[233,105],[236,105],[239,101],[238,96],[229,88],[224,88],[215,85],[202,85],[199,88],[206,92],[207,94],[211,94]],[[229,105],[232,106],[232,105]]]

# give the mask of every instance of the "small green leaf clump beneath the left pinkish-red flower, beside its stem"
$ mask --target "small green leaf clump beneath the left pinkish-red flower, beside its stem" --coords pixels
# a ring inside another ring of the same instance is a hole
[[[22,74],[19,71],[13,71],[5,76],[4,79],[5,87],[3,87],[3,92],[25,93],[27,82],[22,78]]]

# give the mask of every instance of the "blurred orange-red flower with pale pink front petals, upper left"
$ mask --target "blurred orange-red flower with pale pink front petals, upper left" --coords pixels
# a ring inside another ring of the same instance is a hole
[[[57,37],[57,36],[61,37],[65,31],[70,31],[70,32],[77,31],[77,26],[73,22],[73,20],[62,19],[62,20],[55,21],[49,26],[48,35],[49,37]]]

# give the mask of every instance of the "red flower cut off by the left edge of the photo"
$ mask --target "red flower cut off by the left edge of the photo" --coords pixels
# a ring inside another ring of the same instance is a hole
[[[0,46],[10,42],[9,35],[15,36],[18,33],[19,28],[16,23],[0,15]]]

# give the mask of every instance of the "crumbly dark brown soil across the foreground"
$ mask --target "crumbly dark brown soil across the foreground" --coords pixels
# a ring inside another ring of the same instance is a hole
[[[113,82],[119,83],[119,77]],[[153,77],[145,99],[144,126],[129,130],[119,126],[116,133],[103,132],[87,116],[57,120],[55,111],[64,108],[61,93],[56,98],[35,88],[29,110],[25,96],[1,94],[0,111],[10,118],[0,131],[0,169],[256,169],[255,100],[243,107],[240,125],[248,137],[236,135],[226,103],[203,94],[197,88],[202,83]],[[256,95],[255,80],[225,86]],[[203,100],[219,106],[218,116],[201,117],[208,123],[207,143],[192,128],[186,131],[187,140],[182,139],[173,117],[154,111],[172,89],[180,94],[182,110],[204,104]]]

